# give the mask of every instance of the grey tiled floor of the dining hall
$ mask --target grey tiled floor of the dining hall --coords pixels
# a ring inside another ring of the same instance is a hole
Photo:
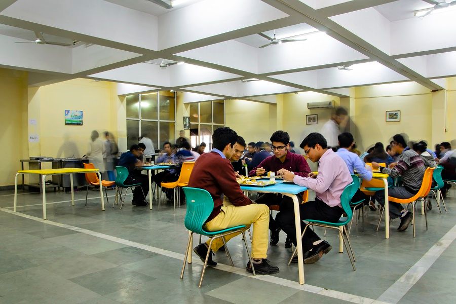
[[[454,193],[452,195],[454,196]],[[11,191],[0,192],[0,207],[12,210]],[[108,195],[113,195],[109,192]],[[6,303],[344,303],[340,298],[300,290],[296,283],[297,265],[286,265],[289,250],[279,246],[269,248],[269,259],[280,267],[275,275],[286,284],[268,281],[268,277],[246,277],[242,269],[247,255],[240,238],[229,243],[235,267],[240,273],[208,269],[203,288],[198,289],[202,267],[188,264],[184,279],[179,280],[187,240],[183,226],[185,206],[173,212],[171,204],[134,207],[127,203],[122,210],[111,205],[101,211],[98,193],[89,192],[88,206],[84,200],[71,206],[70,195],[47,195],[48,220],[102,233],[97,237],[84,232],[50,225],[0,211],[0,301]],[[75,193],[84,199],[84,192]],[[62,202],[65,201],[65,202]],[[18,211],[42,217],[41,195],[18,196]],[[52,204],[54,203],[54,204]],[[328,231],[326,239],[333,250],[321,261],[305,265],[306,283],[347,294],[378,298],[413,264],[436,244],[456,223],[455,198],[446,200],[448,213],[434,209],[428,213],[429,231],[424,217],[416,215],[416,238],[411,227],[399,233],[398,220],[391,223],[390,239],[384,238],[384,224],[375,232],[378,214],[366,210],[364,223],[352,227],[357,271],[351,268],[346,253],[337,252],[338,238]],[[26,206],[34,205],[34,206]],[[316,229],[320,236],[323,230]],[[110,240],[109,236],[136,242],[128,245]],[[195,241],[196,243],[196,241]],[[142,244],[142,245],[141,245]],[[132,245],[132,246],[129,246]],[[153,246],[141,247],[141,246]],[[141,247],[141,248],[137,248]],[[166,252],[158,252],[164,249]],[[399,300],[399,303],[456,301],[454,270],[456,244],[452,243],[432,267]],[[194,258],[196,258],[194,256]],[[214,259],[229,264],[224,253]],[[291,285],[290,285],[291,284]],[[286,286],[284,286],[286,285]],[[306,285],[305,285],[306,286]]]

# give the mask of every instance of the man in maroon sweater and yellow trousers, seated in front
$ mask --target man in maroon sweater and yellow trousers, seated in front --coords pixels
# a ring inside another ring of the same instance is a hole
[[[206,220],[204,229],[218,231],[237,225],[246,225],[246,229],[248,229],[253,224],[252,259],[255,272],[263,275],[276,274],[279,272],[279,268],[270,265],[266,259],[269,208],[265,205],[254,204],[244,196],[229,161],[234,154],[233,145],[238,137],[236,132],[230,128],[216,129],[212,135],[214,148],[210,153],[203,154],[197,159],[188,186],[205,189],[214,200],[214,209]],[[223,205],[224,196],[232,205]],[[226,236],[225,241],[229,241],[234,236],[236,234]],[[208,246],[209,241],[193,249],[203,262]],[[216,239],[212,242],[211,250],[217,251],[221,246],[223,246],[223,240]],[[207,265],[208,267],[217,265],[212,260],[211,254],[209,254]],[[246,270],[253,273],[250,261],[247,263]]]

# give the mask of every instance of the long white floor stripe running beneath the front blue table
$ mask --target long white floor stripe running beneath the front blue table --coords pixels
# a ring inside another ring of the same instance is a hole
[[[13,211],[11,211],[9,209],[6,209],[6,208],[0,208],[0,211],[4,211],[4,212],[7,212],[7,213],[11,213],[13,215],[25,217],[25,218],[28,218],[28,219],[31,219],[31,220],[43,222],[43,223],[46,223],[46,224],[62,227],[62,228],[65,228],[65,229],[77,231],[77,232],[84,233],[84,234],[87,234],[87,235],[91,235],[91,236],[95,236],[95,237],[98,237],[98,238],[102,238],[102,239],[105,239],[105,240],[108,240],[108,241],[112,241],[112,242],[124,244],[124,245],[127,245],[127,246],[131,246],[131,247],[136,247],[136,248],[139,248],[139,249],[147,250],[147,251],[154,252],[154,253],[157,253],[157,254],[161,254],[161,255],[168,256],[168,257],[172,257],[172,258],[175,258],[175,259],[178,259],[178,260],[181,260],[181,261],[184,260],[184,255],[183,254],[176,253],[176,252],[173,252],[173,251],[169,251],[169,250],[166,250],[166,249],[161,249],[161,248],[158,248],[158,247],[154,247],[154,246],[150,246],[150,245],[145,245],[145,244],[141,244],[141,243],[125,240],[125,239],[121,239],[121,238],[118,238],[118,237],[109,236],[109,235],[106,235],[106,234],[103,234],[103,233],[94,232],[94,231],[83,229],[83,228],[80,228],[80,227],[77,227],[77,226],[72,226],[72,225],[68,225],[68,224],[58,223],[58,222],[54,222],[54,221],[51,221],[51,220],[44,220],[42,218],[38,218],[38,217],[35,217],[35,216],[27,215],[27,214],[24,214],[24,213],[13,212]],[[193,263],[197,263],[199,265],[203,265],[204,264],[202,261],[200,261],[198,259],[193,259]],[[218,263],[217,269],[221,270],[221,271],[227,271],[227,272],[236,273],[236,274],[239,274],[239,275],[242,275],[242,276],[245,276],[245,277],[250,277],[252,279],[262,280],[262,281],[270,282],[270,283],[281,285],[281,286],[291,287],[291,288],[294,288],[294,289],[297,289],[297,290],[302,290],[302,291],[307,291],[307,292],[311,292],[311,293],[321,294],[321,295],[332,297],[332,298],[339,299],[340,296],[344,296],[344,300],[350,301],[350,302],[353,302],[353,303],[357,303],[357,304],[370,304],[370,303],[373,303],[373,301],[375,301],[374,299],[370,299],[370,298],[367,298],[367,297],[354,295],[354,294],[349,294],[349,293],[336,291],[336,290],[331,290],[331,289],[326,289],[326,288],[318,287],[318,286],[314,286],[314,285],[309,285],[309,284],[301,285],[298,282],[291,281],[291,280],[288,280],[288,279],[283,279],[283,278],[278,278],[278,277],[273,277],[273,276],[262,276],[262,275],[253,276],[251,274],[246,273],[245,269],[241,269],[241,268],[237,268],[237,267],[233,267],[233,266],[225,265],[225,264],[221,264],[221,263]],[[389,302],[382,302],[382,301],[378,301],[377,303],[379,303],[379,304],[391,304]]]

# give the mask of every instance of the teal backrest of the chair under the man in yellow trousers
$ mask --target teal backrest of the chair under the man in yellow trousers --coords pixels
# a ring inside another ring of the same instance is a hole
[[[214,209],[214,200],[205,189],[183,187],[187,200],[184,225],[189,231],[206,235],[203,225]]]

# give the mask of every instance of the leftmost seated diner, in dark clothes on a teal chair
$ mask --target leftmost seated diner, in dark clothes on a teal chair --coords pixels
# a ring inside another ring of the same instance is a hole
[[[142,191],[139,187],[135,187],[133,190],[133,201],[132,205],[136,206],[147,206],[145,197],[149,192],[149,181],[146,175],[141,174],[140,170],[135,170],[136,166],[142,166],[142,162],[139,160],[140,148],[137,144],[130,147],[130,151],[123,153],[119,159],[119,166],[128,169],[128,177],[124,184],[131,185],[135,183],[141,183]],[[144,196],[142,195],[144,193]]]

